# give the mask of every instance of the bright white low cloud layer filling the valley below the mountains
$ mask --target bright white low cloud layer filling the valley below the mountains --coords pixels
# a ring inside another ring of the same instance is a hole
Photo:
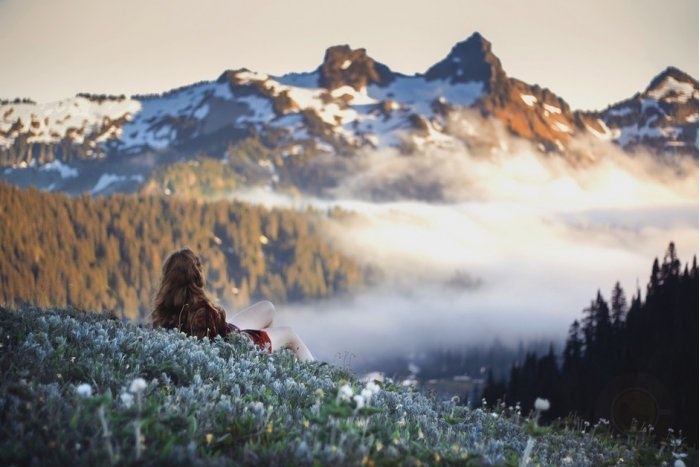
[[[366,153],[323,200],[239,194],[354,212],[325,234],[384,273],[381,286],[352,298],[280,307],[279,322],[328,361],[496,338],[561,341],[597,290],[608,297],[619,280],[628,297],[644,291],[669,242],[684,262],[697,254],[697,163],[679,169],[582,140],[590,159],[572,167],[509,143],[488,155]],[[436,195],[416,201],[411,186]]]

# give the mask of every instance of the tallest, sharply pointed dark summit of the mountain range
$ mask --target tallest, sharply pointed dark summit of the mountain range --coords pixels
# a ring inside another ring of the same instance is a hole
[[[425,78],[429,81],[449,80],[451,83],[481,81],[487,90],[492,90],[505,80],[506,74],[501,61],[491,52],[491,43],[475,32],[430,67]]]

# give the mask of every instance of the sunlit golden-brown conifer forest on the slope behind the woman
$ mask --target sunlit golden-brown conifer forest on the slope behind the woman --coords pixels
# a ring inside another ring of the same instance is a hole
[[[0,183],[0,303],[73,306],[143,319],[163,261],[190,247],[227,305],[329,297],[359,266],[321,239],[325,216],[154,196],[69,197]]]

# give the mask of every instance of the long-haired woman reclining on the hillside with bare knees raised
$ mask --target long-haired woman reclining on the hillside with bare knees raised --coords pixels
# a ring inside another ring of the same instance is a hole
[[[242,333],[268,352],[287,347],[299,360],[313,361],[313,355],[292,328],[271,327],[274,313],[272,303],[259,302],[236,314],[232,323],[227,323],[224,310],[204,292],[199,258],[189,248],[183,248],[163,263],[151,320],[153,327],[179,329],[200,339]]]

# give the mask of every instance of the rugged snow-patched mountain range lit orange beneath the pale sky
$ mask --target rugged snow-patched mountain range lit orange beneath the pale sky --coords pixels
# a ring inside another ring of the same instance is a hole
[[[164,167],[197,156],[232,162],[231,148],[244,144],[233,161],[239,181],[245,173],[244,179],[257,174],[276,183],[280,171],[298,179],[319,155],[385,148],[488,154],[508,150],[513,137],[572,164],[599,157],[575,144],[586,139],[630,154],[697,160],[698,81],[669,67],[629,99],[582,111],[547,88],[509,77],[479,33],[412,76],[365,49],[340,45],[306,73],[275,77],[242,68],[160,95],[1,101],[0,178],[72,194],[133,192]],[[255,157],[251,147],[265,156]],[[163,183],[155,189],[167,192]]]

